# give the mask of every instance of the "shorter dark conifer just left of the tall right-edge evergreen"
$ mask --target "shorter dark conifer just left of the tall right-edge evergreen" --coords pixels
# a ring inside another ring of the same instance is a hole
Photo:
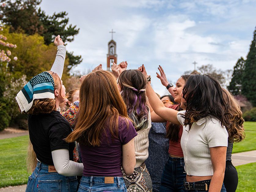
[[[236,65],[234,67],[232,79],[228,86],[229,91],[233,95],[241,94],[244,65],[245,65],[245,60],[243,59],[243,57],[241,57],[239,60],[237,60]]]

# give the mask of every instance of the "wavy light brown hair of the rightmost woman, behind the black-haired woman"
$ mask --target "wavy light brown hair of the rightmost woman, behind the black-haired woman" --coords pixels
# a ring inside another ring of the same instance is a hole
[[[223,89],[223,91],[226,93],[224,99],[229,99],[229,113],[232,114],[229,119],[231,124],[226,127],[229,133],[229,141],[240,142],[245,138],[242,111],[234,96],[227,89]]]

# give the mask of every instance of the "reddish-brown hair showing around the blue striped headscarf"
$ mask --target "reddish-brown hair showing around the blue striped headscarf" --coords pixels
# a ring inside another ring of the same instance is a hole
[[[61,86],[61,80],[59,75],[52,71],[47,71],[47,72],[51,74],[53,77],[54,90],[60,88],[60,92],[61,92],[62,86]],[[51,98],[35,99],[33,101],[32,107],[27,112],[23,112],[23,113],[34,114],[34,115],[40,114],[40,113],[51,113],[52,111],[56,110],[55,104],[56,104],[56,101]]]

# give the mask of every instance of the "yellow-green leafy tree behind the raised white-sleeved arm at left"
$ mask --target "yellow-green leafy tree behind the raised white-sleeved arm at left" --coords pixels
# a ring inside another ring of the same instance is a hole
[[[11,51],[19,60],[11,60],[8,63],[8,70],[12,73],[12,77],[15,80],[19,79],[22,75],[26,75],[28,81],[36,74],[51,69],[57,53],[57,48],[53,43],[45,45],[43,37],[38,34],[9,33],[8,27],[2,31],[2,34],[12,39],[12,42],[17,45],[17,48],[12,48]],[[67,63],[68,59],[65,60],[62,75],[64,82],[69,76]]]

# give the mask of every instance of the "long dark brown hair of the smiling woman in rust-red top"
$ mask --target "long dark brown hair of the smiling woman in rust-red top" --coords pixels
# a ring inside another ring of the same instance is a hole
[[[186,82],[187,79],[190,77],[190,74],[187,75],[181,75],[181,78]],[[181,105],[176,109],[177,111],[181,111]],[[166,137],[169,138],[172,142],[178,142],[179,140],[179,131],[180,131],[180,125],[171,123],[169,121],[166,122]]]

